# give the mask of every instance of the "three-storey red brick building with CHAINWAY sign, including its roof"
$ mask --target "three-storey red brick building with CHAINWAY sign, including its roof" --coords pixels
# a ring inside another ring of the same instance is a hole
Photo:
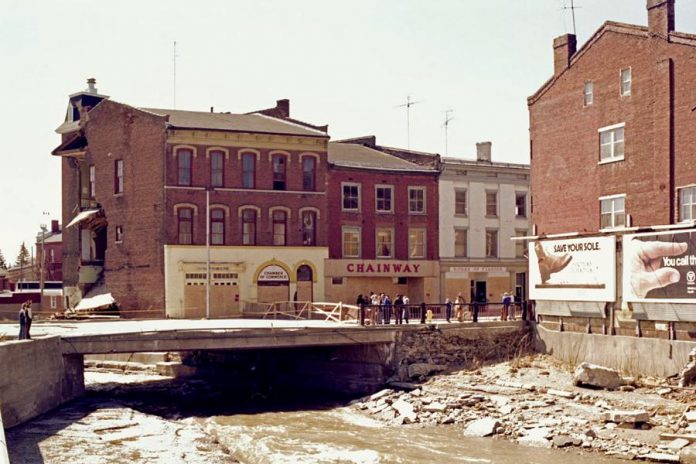
[[[438,302],[439,170],[381,148],[374,137],[329,143],[327,298]]]

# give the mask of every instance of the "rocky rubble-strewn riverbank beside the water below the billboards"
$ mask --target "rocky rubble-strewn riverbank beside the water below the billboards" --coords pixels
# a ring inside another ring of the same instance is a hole
[[[421,383],[394,382],[353,407],[390,425],[451,425],[464,435],[524,445],[696,463],[696,444],[690,445],[696,391],[676,380],[634,379],[616,391],[582,388],[573,385],[571,366],[545,355],[426,378],[442,369],[413,363],[401,377]]]

